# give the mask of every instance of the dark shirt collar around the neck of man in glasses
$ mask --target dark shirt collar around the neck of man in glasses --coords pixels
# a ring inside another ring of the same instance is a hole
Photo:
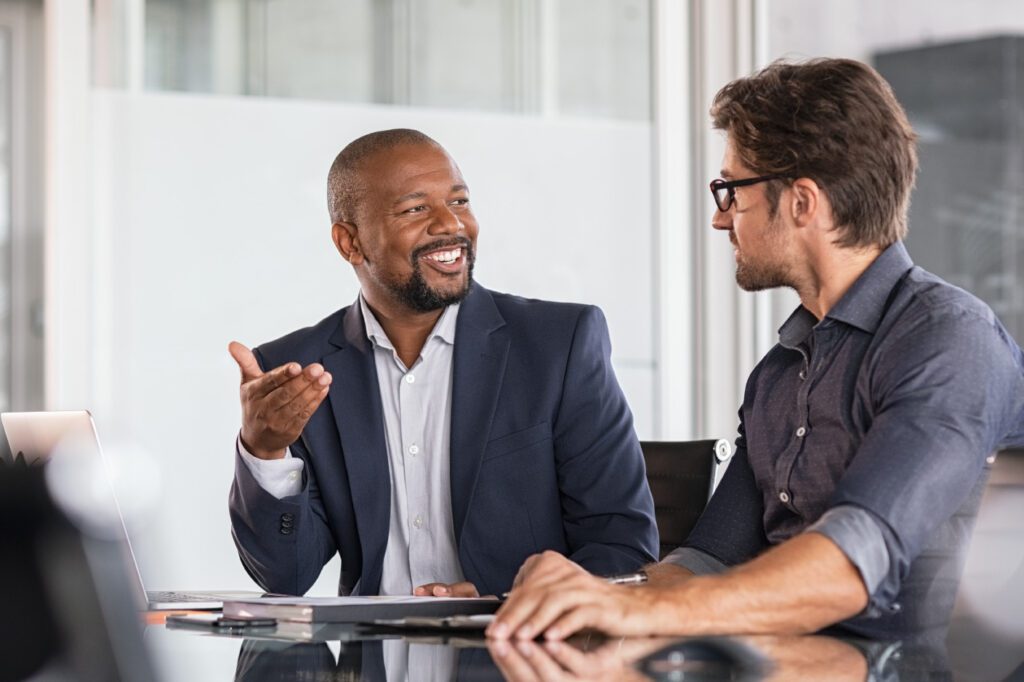
[[[873,333],[882,322],[893,287],[911,267],[913,261],[910,260],[906,247],[902,242],[894,243],[879,254],[821,322],[835,319]],[[779,343],[786,348],[796,348],[818,324],[817,317],[810,310],[803,305],[798,306],[779,327]]]

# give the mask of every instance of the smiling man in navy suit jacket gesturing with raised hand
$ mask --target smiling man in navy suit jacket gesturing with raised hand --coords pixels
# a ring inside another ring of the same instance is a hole
[[[242,562],[303,594],[341,554],[339,594],[510,589],[553,550],[597,574],[653,560],[653,503],[593,306],[473,282],[459,167],[415,130],[360,137],[328,176],[358,299],[231,355],[242,429],[230,493]]]

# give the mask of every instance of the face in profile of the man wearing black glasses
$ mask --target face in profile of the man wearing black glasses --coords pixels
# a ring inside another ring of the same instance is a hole
[[[725,145],[722,178],[740,180],[759,173],[745,167],[736,155],[732,139]],[[775,287],[796,287],[791,266],[792,240],[779,207],[773,212],[764,182],[736,187],[728,211],[715,211],[712,226],[729,232],[736,259],[736,284],[745,291]]]

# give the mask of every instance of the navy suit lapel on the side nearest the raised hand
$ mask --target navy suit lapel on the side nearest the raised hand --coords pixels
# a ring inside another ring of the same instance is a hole
[[[329,400],[341,436],[362,548],[359,589],[372,594],[379,589],[387,547],[391,479],[377,367],[358,302],[348,308],[331,343],[338,350],[325,356],[324,367],[334,378]]]

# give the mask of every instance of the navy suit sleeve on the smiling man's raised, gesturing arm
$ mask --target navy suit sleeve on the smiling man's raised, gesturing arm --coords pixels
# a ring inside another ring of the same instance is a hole
[[[258,351],[256,357],[263,367]],[[316,582],[336,548],[301,438],[291,451],[305,463],[298,495],[279,500],[264,491],[236,453],[228,510],[231,537],[246,571],[267,592],[301,595]]]

